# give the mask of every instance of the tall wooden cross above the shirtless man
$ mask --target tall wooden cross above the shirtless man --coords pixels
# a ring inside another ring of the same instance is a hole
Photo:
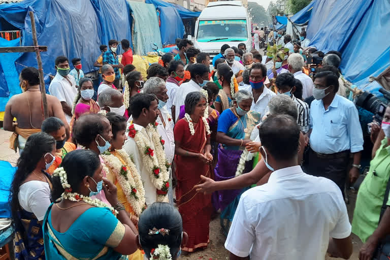
[[[0,53],[35,52],[35,54],[37,55],[37,62],[38,62],[38,72],[39,72],[40,90],[42,96],[43,113],[44,113],[44,117],[47,118],[49,117],[49,114],[47,111],[46,88],[45,88],[45,81],[43,80],[42,60],[40,54],[41,51],[47,51],[47,46],[38,45],[34,13],[32,13],[32,11],[29,11],[28,13],[31,19],[31,32],[32,32],[32,41],[34,42],[34,46],[2,47],[0,48]]]

